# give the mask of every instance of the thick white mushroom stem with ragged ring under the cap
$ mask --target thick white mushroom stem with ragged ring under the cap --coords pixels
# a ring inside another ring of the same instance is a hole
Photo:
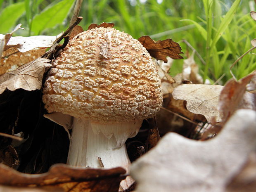
[[[121,166],[128,172],[130,160],[124,144],[137,134],[141,123],[142,120],[102,124],[74,118],[67,164],[90,168]],[[125,190],[132,183],[133,179],[127,177],[121,186]]]

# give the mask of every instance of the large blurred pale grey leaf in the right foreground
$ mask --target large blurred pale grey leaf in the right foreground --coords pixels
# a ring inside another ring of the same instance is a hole
[[[239,109],[223,130],[207,141],[166,134],[133,162],[136,192],[223,192],[256,150],[255,119],[256,111]]]

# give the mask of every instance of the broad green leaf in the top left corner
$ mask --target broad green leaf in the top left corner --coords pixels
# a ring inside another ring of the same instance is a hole
[[[0,14],[0,33],[10,32],[11,27],[25,11],[24,2],[17,2],[5,7]]]

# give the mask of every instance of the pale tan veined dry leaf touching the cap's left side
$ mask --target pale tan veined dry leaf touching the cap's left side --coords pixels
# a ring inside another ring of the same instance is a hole
[[[18,69],[0,76],[0,94],[8,90],[22,88],[24,90],[40,89],[43,74],[47,67],[52,66],[49,59],[38,58],[20,66]]]

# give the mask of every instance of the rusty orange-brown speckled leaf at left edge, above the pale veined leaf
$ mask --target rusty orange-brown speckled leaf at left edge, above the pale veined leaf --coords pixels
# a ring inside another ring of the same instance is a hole
[[[11,47],[3,52],[0,60],[0,75],[13,71],[19,66],[35,60],[45,53],[45,49],[30,50],[28,52],[19,52],[17,48]]]

